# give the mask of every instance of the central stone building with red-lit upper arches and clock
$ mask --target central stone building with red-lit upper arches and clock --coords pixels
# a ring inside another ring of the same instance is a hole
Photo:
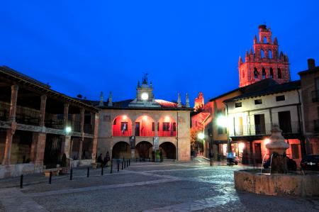
[[[155,99],[147,77],[138,83],[135,99],[99,103],[98,153],[112,158],[152,158],[162,150],[164,158],[190,160],[190,111],[177,103]],[[186,105],[189,100],[186,95]]]

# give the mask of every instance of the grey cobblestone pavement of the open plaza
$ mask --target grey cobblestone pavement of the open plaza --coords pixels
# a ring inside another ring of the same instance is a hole
[[[132,162],[113,174],[74,169],[74,177],[40,174],[0,180],[0,211],[319,211],[319,199],[264,196],[234,189],[233,171],[205,160]]]

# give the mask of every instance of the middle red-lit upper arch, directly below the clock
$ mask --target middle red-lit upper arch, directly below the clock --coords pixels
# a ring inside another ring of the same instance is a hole
[[[155,119],[152,116],[143,114],[135,120],[135,136],[155,136]]]

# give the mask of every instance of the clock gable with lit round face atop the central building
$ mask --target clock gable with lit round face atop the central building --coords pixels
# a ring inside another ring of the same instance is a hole
[[[160,107],[160,105],[155,101],[153,94],[152,82],[148,84],[147,74],[142,77],[142,84],[138,82],[138,87],[136,88],[136,98],[130,102],[129,107]]]

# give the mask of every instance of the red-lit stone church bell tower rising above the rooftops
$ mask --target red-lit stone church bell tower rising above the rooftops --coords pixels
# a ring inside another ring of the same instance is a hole
[[[266,25],[259,26],[259,40],[254,36],[254,51],[246,52],[245,62],[240,57],[238,70],[240,87],[259,80],[272,78],[279,84],[290,81],[287,55],[278,52],[278,40],[272,41],[272,31]]]

